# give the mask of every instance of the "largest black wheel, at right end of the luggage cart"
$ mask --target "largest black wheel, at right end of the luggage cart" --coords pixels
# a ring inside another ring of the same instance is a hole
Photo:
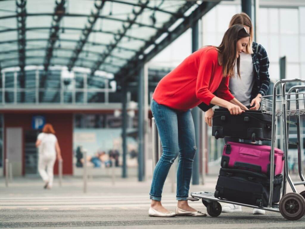
[[[279,209],[287,220],[298,220],[305,213],[305,199],[300,194],[287,193],[280,200]]]

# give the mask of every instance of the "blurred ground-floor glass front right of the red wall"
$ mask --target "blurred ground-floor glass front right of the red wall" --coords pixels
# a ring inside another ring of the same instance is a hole
[[[137,116],[129,111],[127,118],[127,166],[138,166]],[[75,114],[73,130],[73,171],[80,175],[86,162],[93,175],[104,168],[122,166],[122,117],[120,111],[104,114]],[[86,160],[84,151],[87,151]]]

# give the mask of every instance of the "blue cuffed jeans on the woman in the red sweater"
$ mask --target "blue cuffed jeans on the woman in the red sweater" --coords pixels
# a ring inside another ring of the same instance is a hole
[[[162,156],[153,173],[150,198],[161,201],[168,171],[179,154],[176,198],[186,200],[197,149],[191,110],[177,111],[155,100],[152,100],[151,109],[162,143]]]

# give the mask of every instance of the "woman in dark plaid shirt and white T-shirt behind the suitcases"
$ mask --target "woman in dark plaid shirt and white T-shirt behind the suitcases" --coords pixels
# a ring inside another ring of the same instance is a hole
[[[242,24],[246,27],[250,34],[250,42],[246,48],[246,53],[240,55],[240,78],[235,74],[235,78],[230,79],[229,89],[232,95],[243,105],[250,110],[258,110],[260,108],[260,97],[267,94],[270,85],[267,52],[262,45],[253,42],[253,25],[246,13],[238,13],[232,17],[229,27],[236,24]],[[213,114],[212,108],[205,112],[205,122],[209,126],[212,126]],[[239,139],[225,138],[225,141],[227,140],[239,141]],[[222,212],[241,211],[241,206],[234,204],[228,204],[222,208]],[[265,211],[253,209],[253,214],[265,214]]]

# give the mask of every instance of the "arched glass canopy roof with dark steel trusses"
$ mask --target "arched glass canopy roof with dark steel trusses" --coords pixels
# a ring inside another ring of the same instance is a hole
[[[202,1],[6,0],[0,2],[0,69],[27,65],[85,67],[117,74],[148,53],[170,24]],[[179,23],[178,23],[179,24]],[[172,28],[173,29],[173,28]],[[157,36],[156,35],[159,35]],[[161,37],[163,36],[163,37]],[[156,38],[156,39],[152,39]],[[160,41],[157,42],[160,42]],[[145,53],[145,54],[146,54]]]

